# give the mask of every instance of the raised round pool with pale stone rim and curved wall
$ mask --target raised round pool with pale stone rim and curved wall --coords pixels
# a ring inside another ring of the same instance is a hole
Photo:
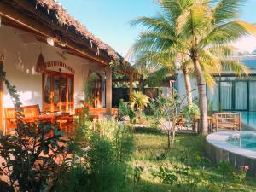
[[[230,165],[249,166],[248,175],[256,177],[256,132],[218,131],[207,136],[207,157],[214,163],[227,160]]]

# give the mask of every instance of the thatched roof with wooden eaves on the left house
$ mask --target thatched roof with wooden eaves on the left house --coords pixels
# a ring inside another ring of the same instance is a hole
[[[71,54],[99,61],[120,73],[137,73],[119,53],[69,15],[57,0],[1,0],[0,11],[5,25],[33,32],[41,41],[45,37],[54,38],[56,46],[65,47]]]

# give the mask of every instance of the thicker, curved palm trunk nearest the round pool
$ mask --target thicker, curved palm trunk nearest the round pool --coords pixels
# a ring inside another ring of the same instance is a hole
[[[207,87],[206,81],[203,76],[203,72],[199,61],[195,58],[193,59],[195,67],[195,76],[198,88],[199,97],[199,108],[200,108],[200,131],[202,135],[207,135],[208,133],[208,114],[207,114]]]

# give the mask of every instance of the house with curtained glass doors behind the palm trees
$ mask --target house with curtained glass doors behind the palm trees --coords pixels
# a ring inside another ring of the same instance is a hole
[[[230,59],[241,61],[249,69],[248,76],[237,77],[235,73],[215,74],[217,84],[213,91],[207,87],[207,101],[214,111],[256,111],[256,55],[234,56]],[[183,74],[178,73],[177,91],[184,95]],[[192,90],[196,89],[195,78],[191,79]],[[198,97],[197,90],[193,91]]]

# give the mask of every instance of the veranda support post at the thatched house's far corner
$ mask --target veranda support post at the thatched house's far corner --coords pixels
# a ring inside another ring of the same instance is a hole
[[[112,69],[106,68],[106,112],[112,114]]]

